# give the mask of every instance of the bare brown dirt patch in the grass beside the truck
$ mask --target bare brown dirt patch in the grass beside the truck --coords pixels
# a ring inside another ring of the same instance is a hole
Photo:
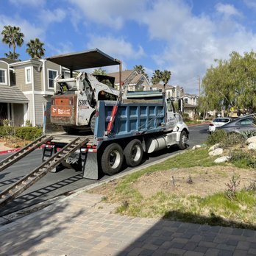
[[[227,189],[232,175],[240,176],[238,188],[247,187],[256,179],[256,171],[233,166],[212,166],[179,168],[169,171],[156,171],[140,177],[132,187],[149,198],[157,192],[177,195],[207,196]]]

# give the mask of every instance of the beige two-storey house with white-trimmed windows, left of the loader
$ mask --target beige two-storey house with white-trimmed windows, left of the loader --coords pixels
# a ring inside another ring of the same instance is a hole
[[[54,78],[69,71],[49,60],[0,59],[0,118],[11,124],[43,125],[44,105],[54,95]]]

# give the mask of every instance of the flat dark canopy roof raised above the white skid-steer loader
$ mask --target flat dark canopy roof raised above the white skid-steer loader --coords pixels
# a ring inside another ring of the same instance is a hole
[[[47,57],[46,60],[50,60],[52,63],[62,65],[70,70],[98,68],[107,65],[121,64],[119,60],[110,57],[99,49],[60,54],[53,57]]]

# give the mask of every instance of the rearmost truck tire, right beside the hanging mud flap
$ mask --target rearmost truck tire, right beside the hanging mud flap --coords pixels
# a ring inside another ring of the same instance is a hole
[[[123,149],[117,143],[108,145],[102,154],[102,171],[107,175],[114,175],[120,171],[123,164]]]

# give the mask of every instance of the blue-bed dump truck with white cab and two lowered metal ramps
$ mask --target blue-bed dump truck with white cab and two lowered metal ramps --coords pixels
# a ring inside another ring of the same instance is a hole
[[[71,73],[72,68],[81,68],[85,65],[91,68],[92,64],[89,60],[96,67],[102,66],[102,63],[116,64],[115,59],[98,49],[50,59],[69,68]],[[85,63],[82,62],[84,59]],[[89,76],[84,73],[80,77],[84,79]],[[58,104],[59,115],[55,113],[54,118],[60,118],[60,120],[63,118],[62,124],[65,126],[69,122],[77,124],[81,115],[79,112],[84,110],[79,108],[79,102],[75,103],[79,99],[79,94],[84,92],[84,88],[79,88],[77,85],[77,89],[70,90],[70,93],[58,93],[53,96],[53,99],[58,99],[61,103]],[[60,165],[75,166],[77,170],[82,171],[84,178],[99,179],[102,174],[117,174],[124,166],[139,166],[146,154],[168,149],[171,146],[178,146],[179,149],[187,148],[188,127],[183,122],[179,111],[175,110],[174,99],[166,98],[164,90],[163,92],[154,90],[119,92],[118,96],[115,96],[115,100],[97,98],[95,107],[90,110],[95,116],[93,132],[77,130],[76,134],[70,135],[67,132],[52,132],[46,129],[45,134],[36,141],[1,161],[0,171],[3,171],[17,160],[43,146],[43,163],[10,188],[2,191],[0,206],[17,197],[49,171],[56,171],[57,166]],[[61,102],[62,99],[63,102]],[[70,102],[71,99],[73,102]],[[56,102],[51,105],[51,115],[54,110],[52,106],[56,106]],[[180,106],[182,108],[182,104]],[[63,115],[65,110],[69,110],[69,113]]]

